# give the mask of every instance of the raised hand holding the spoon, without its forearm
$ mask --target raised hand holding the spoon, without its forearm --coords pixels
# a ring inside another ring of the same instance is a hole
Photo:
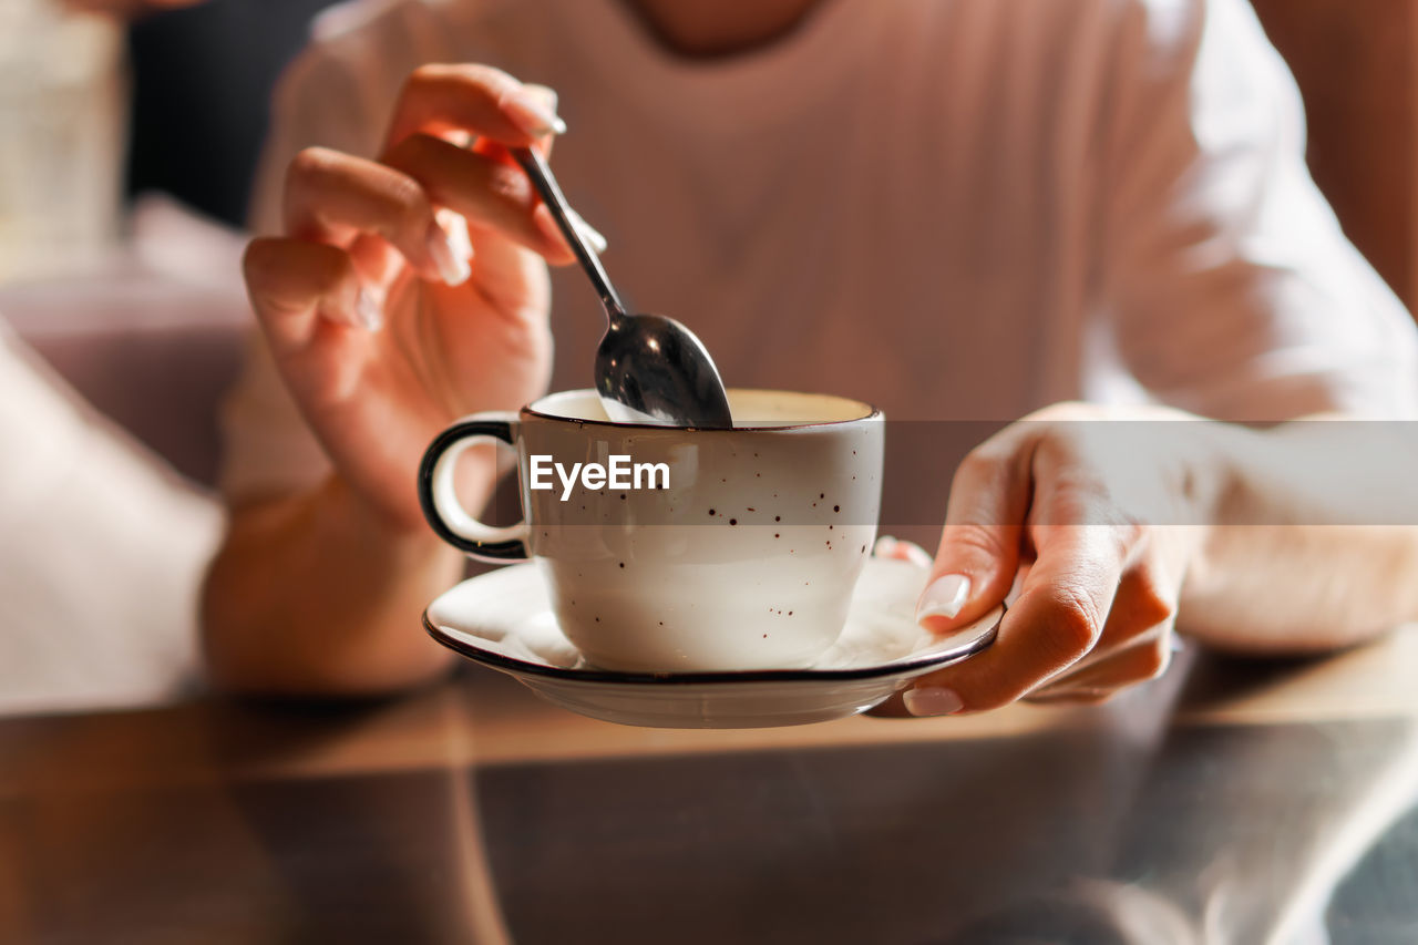
[[[550,89],[423,67],[380,159],[298,155],[285,236],[247,250],[288,387],[336,474],[396,531],[423,528],[414,475],[438,430],[546,389],[546,262],[574,257],[506,149],[546,150],[563,129]],[[491,453],[479,463],[491,482]]]

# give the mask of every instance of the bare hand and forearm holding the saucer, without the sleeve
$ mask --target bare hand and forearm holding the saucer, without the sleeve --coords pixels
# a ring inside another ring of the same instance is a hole
[[[1059,404],[974,450],[951,485],[923,623],[994,646],[910,711],[1106,698],[1163,673],[1177,629],[1236,653],[1323,653],[1418,620],[1408,424],[1272,430]]]

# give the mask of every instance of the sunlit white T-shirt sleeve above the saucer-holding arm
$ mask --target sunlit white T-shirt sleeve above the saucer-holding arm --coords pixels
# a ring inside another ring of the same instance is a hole
[[[1251,7],[1139,1],[1119,50],[1100,291],[1126,369],[1227,420],[1418,414],[1418,332],[1310,179]]]

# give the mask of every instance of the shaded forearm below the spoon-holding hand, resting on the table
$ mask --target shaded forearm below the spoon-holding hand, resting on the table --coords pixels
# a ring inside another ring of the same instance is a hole
[[[271,695],[373,695],[441,673],[418,627],[461,575],[431,532],[400,532],[339,478],[233,512],[203,592],[214,685]]]

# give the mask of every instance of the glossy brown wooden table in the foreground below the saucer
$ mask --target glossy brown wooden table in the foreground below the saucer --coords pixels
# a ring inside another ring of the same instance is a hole
[[[485,670],[0,721],[0,941],[1408,944],[1415,667],[1404,630],[1103,708],[757,731]]]

